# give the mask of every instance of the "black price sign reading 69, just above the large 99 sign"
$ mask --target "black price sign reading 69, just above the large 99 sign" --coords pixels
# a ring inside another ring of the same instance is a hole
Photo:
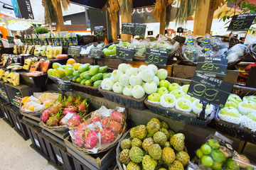
[[[196,72],[215,74],[218,77],[225,77],[228,67],[228,60],[217,57],[198,57]]]

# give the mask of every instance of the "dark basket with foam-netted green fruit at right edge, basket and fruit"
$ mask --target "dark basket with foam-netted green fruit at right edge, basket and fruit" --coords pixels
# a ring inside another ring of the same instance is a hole
[[[224,108],[215,114],[216,129],[256,143],[256,89],[234,86]]]

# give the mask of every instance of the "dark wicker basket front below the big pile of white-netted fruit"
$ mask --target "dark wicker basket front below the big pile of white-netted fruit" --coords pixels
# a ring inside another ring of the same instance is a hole
[[[147,98],[147,95],[142,98],[136,99],[132,96],[125,96],[123,94],[116,94],[113,91],[103,90],[101,86],[99,86],[98,89],[107,100],[113,101],[114,103],[119,103],[122,106],[127,106],[129,108],[134,108],[141,111],[146,108],[144,100]]]

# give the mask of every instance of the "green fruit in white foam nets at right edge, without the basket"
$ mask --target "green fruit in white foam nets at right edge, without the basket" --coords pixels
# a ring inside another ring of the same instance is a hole
[[[230,94],[225,107],[218,113],[218,117],[230,123],[241,124],[255,132],[256,96],[240,98],[236,94]]]

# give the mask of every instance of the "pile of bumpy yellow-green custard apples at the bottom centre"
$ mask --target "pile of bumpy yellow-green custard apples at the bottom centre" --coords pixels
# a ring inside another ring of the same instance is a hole
[[[147,125],[130,130],[131,138],[122,140],[119,160],[127,170],[182,170],[188,165],[184,151],[185,136],[169,130],[169,125],[153,118]]]

